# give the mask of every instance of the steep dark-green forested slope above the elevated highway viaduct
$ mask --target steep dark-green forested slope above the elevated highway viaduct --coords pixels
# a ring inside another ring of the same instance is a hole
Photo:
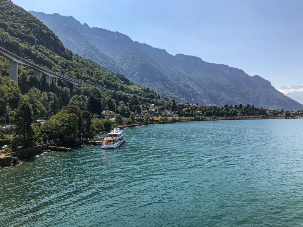
[[[0,5],[0,45],[28,61],[91,84],[114,90],[130,85],[124,75],[73,54],[45,24],[9,0],[1,0]]]

